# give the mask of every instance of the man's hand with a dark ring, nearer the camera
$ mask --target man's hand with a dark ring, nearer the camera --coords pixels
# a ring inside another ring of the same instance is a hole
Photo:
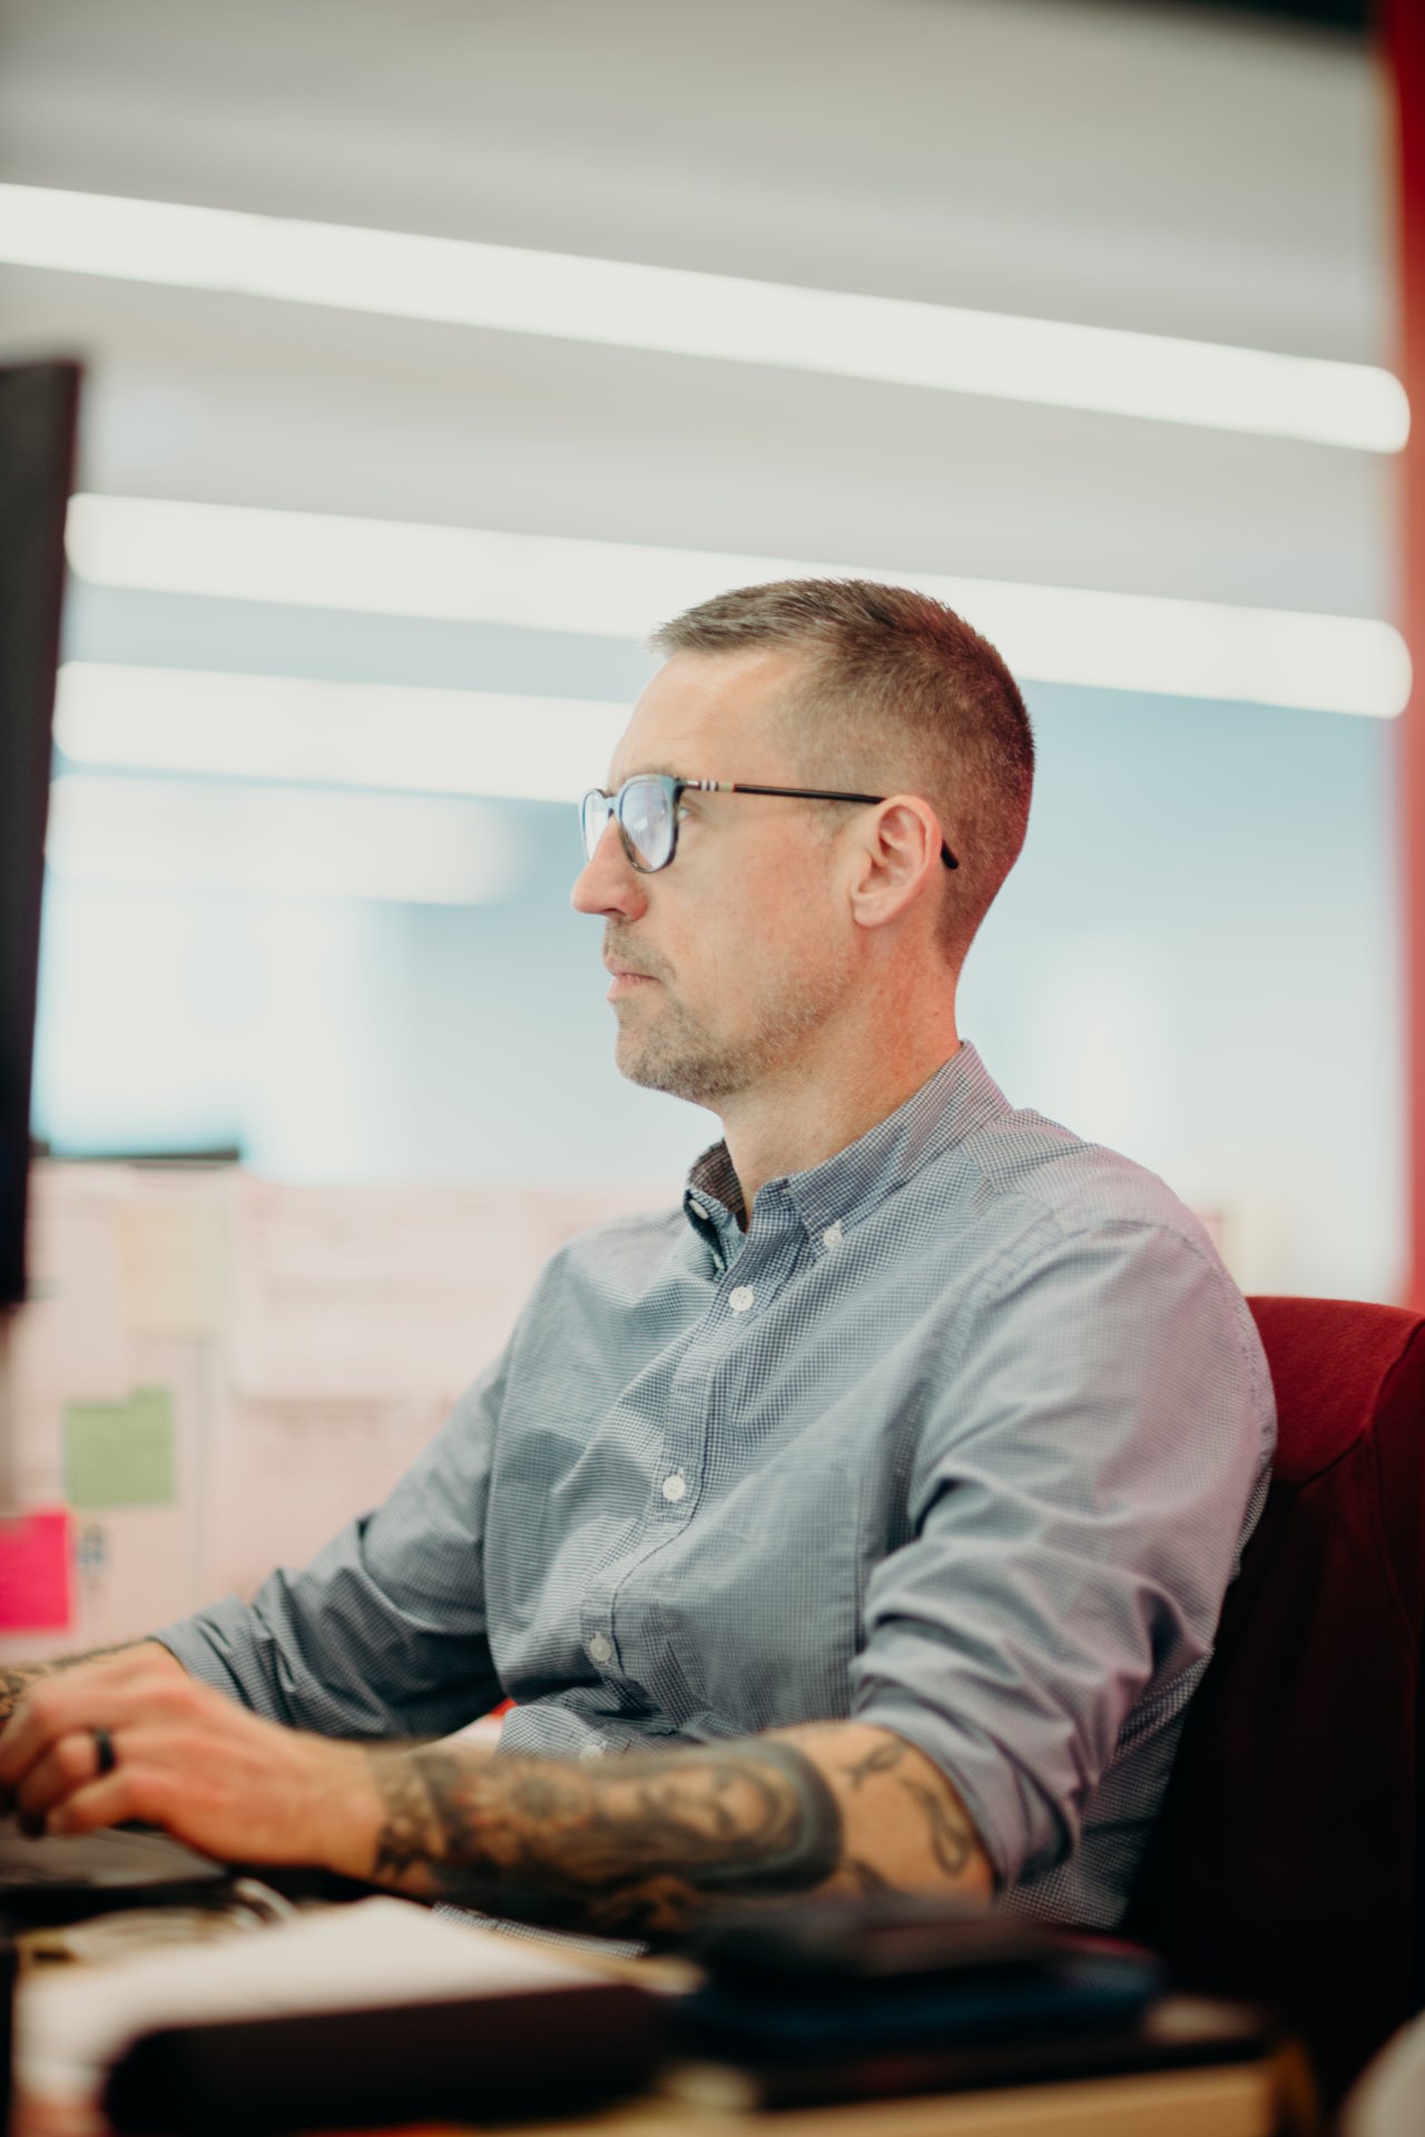
[[[103,1729],[113,1769],[100,1772]],[[325,1866],[370,1774],[353,1744],[261,1720],[145,1643],[24,1690],[0,1733],[0,1791],[32,1829],[141,1819],[226,1861]]]

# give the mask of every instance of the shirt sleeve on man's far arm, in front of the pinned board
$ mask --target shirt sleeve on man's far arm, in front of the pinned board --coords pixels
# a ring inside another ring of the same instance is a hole
[[[508,1355],[508,1353],[506,1353]],[[442,1735],[500,1701],[483,1541],[504,1385],[498,1359],[387,1502],[301,1573],[154,1637],[254,1712],[325,1735]]]

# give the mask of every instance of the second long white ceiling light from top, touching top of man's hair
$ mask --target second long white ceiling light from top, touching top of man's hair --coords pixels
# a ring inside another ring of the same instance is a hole
[[[857,575],[946,600],[1025,682],[1374,718],[1410,695],[1406,641],[1365,615],[156,498],[73,498],[68,553],[98,586],[615,639],[729,586]]]

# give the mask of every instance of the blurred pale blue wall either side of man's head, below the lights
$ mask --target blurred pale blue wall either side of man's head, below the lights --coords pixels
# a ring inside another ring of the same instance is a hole
[[[966,968],[1021,1105],[1224,1222],[1254,1289],[1399,1280],[1391,737],[1372,720],[1034,692],[1030,842]],[[476,908],[51,883],[38,1126],[68,1150],[233,1143],[308,1182],[673,1195],[718,1133],[622,1083],[573,810],[506,806]]]

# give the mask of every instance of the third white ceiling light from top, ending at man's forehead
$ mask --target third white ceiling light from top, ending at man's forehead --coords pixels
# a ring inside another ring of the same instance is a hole
[[[519,801],[598,786],[626,724],[626,705],[583,699],[90,660],[60,669],[56,699],[79,765]]]

